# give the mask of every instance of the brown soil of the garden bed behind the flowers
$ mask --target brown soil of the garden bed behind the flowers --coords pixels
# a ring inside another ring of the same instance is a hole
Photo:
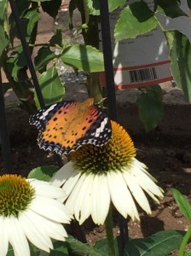
[[[130,132],[135,146],[137,159],[148,166],[148,171],[158,179],[159,186],[165,190],[165,198],[160,206],[151,201],[152,215],[144,212],[141,222],[129,223],[130,237],[145,237],[159,230],[187,230],[188,221],[178,210],[171,195],[171,188],[179,189],[190,197],[191,183],[191,106],[182,98],[182,92],[173,88],[171,83],[163,85],[165,116],[159,126],[146,133],[138,119],[136,93],[134,90],[117,91],[119,123]],[[84,83],[67,83],[67,100],[83,100],[87,97]],[[7,105],[13,172],[26,176],[32,168],[56,165],[54,154],[38,148],[38,131],[28,124],[28,114],[15,106]],[[1,158],[1,173],[3,173]],[[114,233],[119,234],[118,218],[115,216]],[[96,227],[91,221],[83,225],[90,244],[105,236],[103,226]],[[75,234],[73,234],[75,235]],[[176,255],[171,254],[171,255]]]

